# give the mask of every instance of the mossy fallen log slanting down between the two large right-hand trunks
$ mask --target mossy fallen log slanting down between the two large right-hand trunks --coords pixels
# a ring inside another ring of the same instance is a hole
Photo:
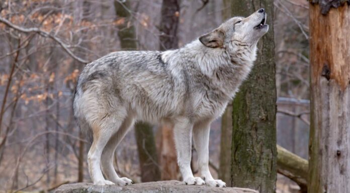
[[[277,145],[277,172],[295,181],[300,192],[307,192],[308,161]]]

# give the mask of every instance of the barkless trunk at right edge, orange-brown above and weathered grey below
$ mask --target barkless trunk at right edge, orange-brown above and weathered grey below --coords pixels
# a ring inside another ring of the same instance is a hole
[[[310,2],[308,192],[350,192],[350,2]]]

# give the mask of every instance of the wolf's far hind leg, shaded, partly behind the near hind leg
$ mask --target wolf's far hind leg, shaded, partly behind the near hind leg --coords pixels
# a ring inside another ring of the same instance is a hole
[[[133,181],[127,177],[119,177],[117,172],[113,167],[113,156],[115,150],[120,143],[120,141],[124,138],[127,131],[134,123],[134,118],[132,116],[128,116],[124,119],[123,124],[118,129],[117,133],[115,133],[110,140],[108,141],[105,149],[103,150],[101,157],[101,167],[102,171],[107,177],[107,179],[113,181],[117,185],[128,185],[133,183]]]

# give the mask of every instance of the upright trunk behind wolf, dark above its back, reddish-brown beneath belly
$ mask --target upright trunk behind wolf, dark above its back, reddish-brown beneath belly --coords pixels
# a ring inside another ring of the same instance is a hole
[[[178,0],[163,0],[161,5],[159,49],[161,51],[176,49],[179,45],[180,6]],[[167,125],[160,128],[160,167],[161,179],[177,179],[179,167],[175,149],[173,130]]]

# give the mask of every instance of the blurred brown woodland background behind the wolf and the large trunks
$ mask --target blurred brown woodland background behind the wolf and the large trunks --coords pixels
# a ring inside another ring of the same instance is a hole
[[[228,0],[0,2],[0,190],[12,192],[91,180],[90,142],[72,115],[76,80],[86,63],[120,50],[181,47],[234,16]],[[268,17],[274,16],[277,143],[308,159],[309,3],[273,4]],[[117,172],[136,182],[180,179],[171,140],[166,140],[169,128],[143,126],[149,133],[133,129],[118,146]],[[210,166],[218,177],[221,119],[210,136]],[[154,148],[144,153],[149,147]],[[147,172],[153,172],[151,178]],[[278,175],[276,192],[298,189]]]

